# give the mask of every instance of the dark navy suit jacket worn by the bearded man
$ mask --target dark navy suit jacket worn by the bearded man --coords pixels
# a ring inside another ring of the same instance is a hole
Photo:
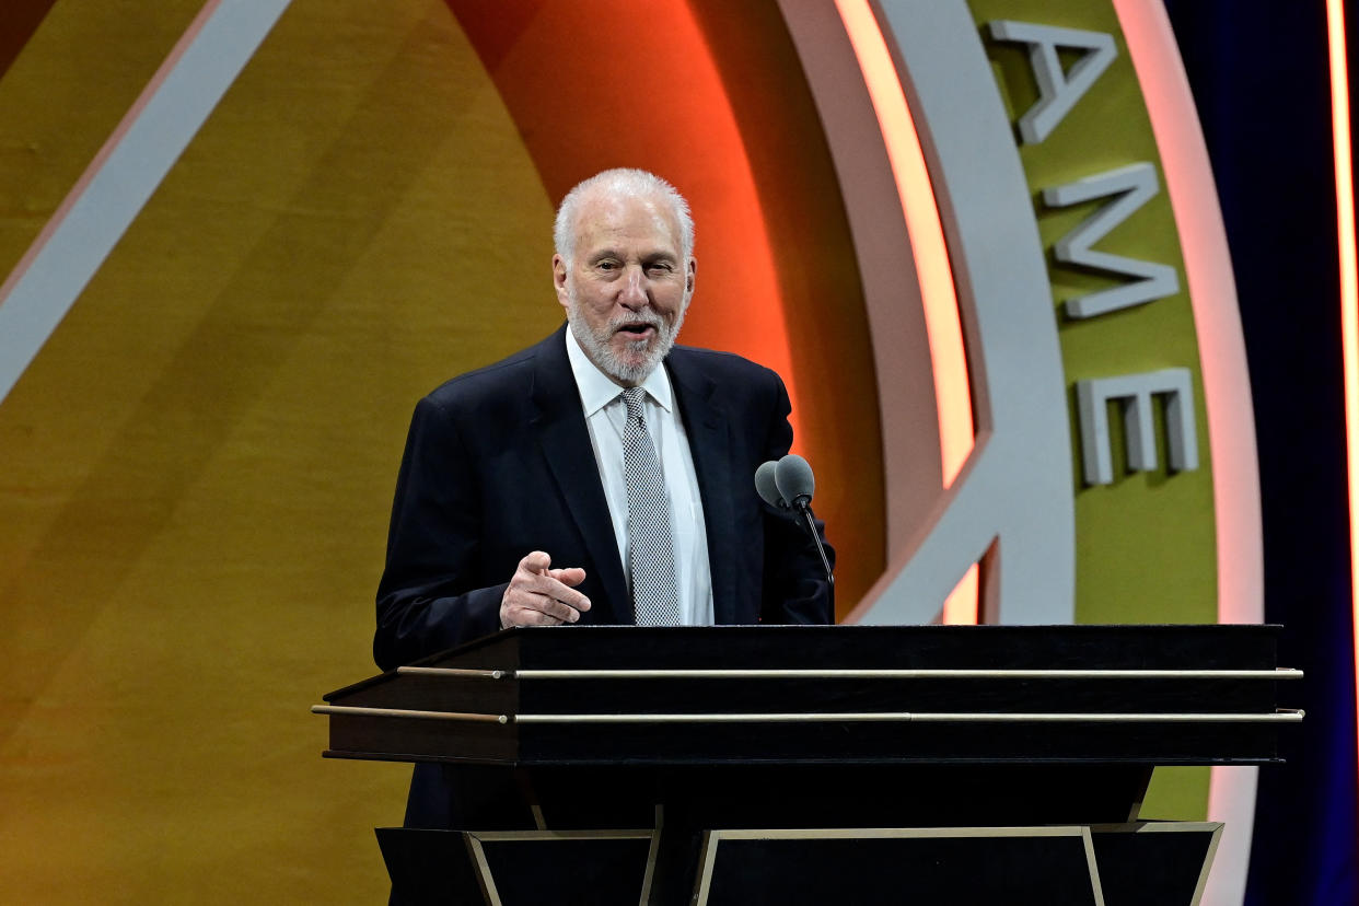
[[[531,550],[584,568],[582,623],[633,622],[564,331],[416,406],[378,588],[383,670],[496,632],[500,596]],[[792,443],[783,382],[739,356],[688,346],[665,367],[703,494],[715,621],[832,622],[811,539],[754,489],[756,469]]]

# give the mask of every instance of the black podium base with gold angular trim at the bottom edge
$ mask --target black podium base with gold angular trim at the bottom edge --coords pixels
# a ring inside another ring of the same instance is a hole
[[[1222,825],[708,830],[654,884],[658,830],[379,829],[393,903],[1196,906]],[[673,879],[678,882],[678,879]]]

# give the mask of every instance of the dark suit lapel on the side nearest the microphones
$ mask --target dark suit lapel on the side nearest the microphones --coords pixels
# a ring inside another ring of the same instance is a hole
[[[703,497],[713,619],[718,625],[731,623],[737,618],[737,539],[731,537],[735,518],[731,508],[730,424],[718,402],[716,383],[694,365],[685,349],[673,349],[666,367],[685,433],[689,435],[689,451]]]

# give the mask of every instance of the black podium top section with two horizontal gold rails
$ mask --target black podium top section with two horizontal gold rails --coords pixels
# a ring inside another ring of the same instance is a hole
[[[1279,628],[512,629],[336,690],[328,755],[1267,763]],[[1287,685],[1287,683],[1284,683]]]

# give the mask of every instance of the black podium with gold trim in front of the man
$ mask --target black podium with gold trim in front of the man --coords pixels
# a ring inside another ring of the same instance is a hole
[[[379,829],[402,902],[1195,903],[1157,765],[1279,761],[1276,626],[515,629],[330,693],[329,758],[523,816]],[[523,867],[531,865],[531,871]]]

